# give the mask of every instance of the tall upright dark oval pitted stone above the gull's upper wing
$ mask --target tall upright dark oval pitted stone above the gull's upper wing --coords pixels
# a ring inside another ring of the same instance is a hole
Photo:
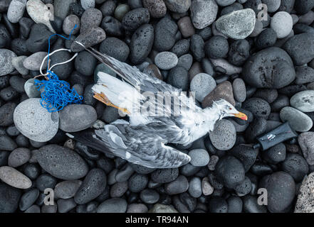
[[[149,23],[146,23],[140,28],[137,28],[132,35],[130,43],[130,60],[133,64],[144,62],[145,58],[152,50],[154,43],[154,28]]]

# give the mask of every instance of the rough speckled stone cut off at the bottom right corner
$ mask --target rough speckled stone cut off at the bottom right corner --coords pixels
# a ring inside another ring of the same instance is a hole
[[[295,204],[295,213],[313,213],[314,200],[314,173],[306,176],[300,186],[298,200]]]

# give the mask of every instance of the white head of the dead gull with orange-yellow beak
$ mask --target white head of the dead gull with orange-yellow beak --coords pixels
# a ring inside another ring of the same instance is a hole
[[[234,106],[224,99],[214,101],[213,107],[216,107],[216,109],[219,110],[220,119],[234,116],[236,118],[241,118],[244,121],[248,120],[248,116],[246,116],[246,114],[237,111]]]

